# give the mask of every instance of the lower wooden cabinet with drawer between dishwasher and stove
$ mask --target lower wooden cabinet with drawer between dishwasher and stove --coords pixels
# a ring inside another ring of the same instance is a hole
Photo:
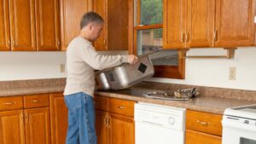
[[[221,144],[222,116],[187,110],[186,144]]]

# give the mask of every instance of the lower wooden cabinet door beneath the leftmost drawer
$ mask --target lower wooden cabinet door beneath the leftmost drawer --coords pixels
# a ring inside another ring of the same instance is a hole
[[[23,110],[0,112],[0,143],[25,144]]]

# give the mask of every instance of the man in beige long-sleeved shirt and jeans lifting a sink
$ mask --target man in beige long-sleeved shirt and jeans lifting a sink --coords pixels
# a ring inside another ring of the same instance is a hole
[[[79,36],[67,47],[67,84],[64,91],[68,109],[67,144],[96,144],[94,69],[102,70],[137,61],[135,55],[100,55],[96,52],[91,42],[100,36],[102,24],[99,14],[84,14]]]

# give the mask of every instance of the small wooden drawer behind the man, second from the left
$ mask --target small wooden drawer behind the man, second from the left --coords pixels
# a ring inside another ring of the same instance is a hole
[[[49,94],[25,95],[24,108],[49,107]]]

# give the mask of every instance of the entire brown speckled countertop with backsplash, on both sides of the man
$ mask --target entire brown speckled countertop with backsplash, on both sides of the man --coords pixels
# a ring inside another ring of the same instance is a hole
[[[53,92],[63,92],[66,78],[36,79],[0,82],[0,96],[32,95]],[[188,89],[194,86],[182,84],[160,84],[143,82],[137,84],[135,88],[144,89]],[[115,91],[96,91],[96,95],[109,96],[119,99],[150,102],[171,107],[183,107],[201,112],[212,112],[223,114],[227,107],[236,107],[249,104],[256,104],[256,92],[240,89],[220,89],[196,86],[201,95],[189,101],[166,101],[150,99],[143,96],[118,94]]]

